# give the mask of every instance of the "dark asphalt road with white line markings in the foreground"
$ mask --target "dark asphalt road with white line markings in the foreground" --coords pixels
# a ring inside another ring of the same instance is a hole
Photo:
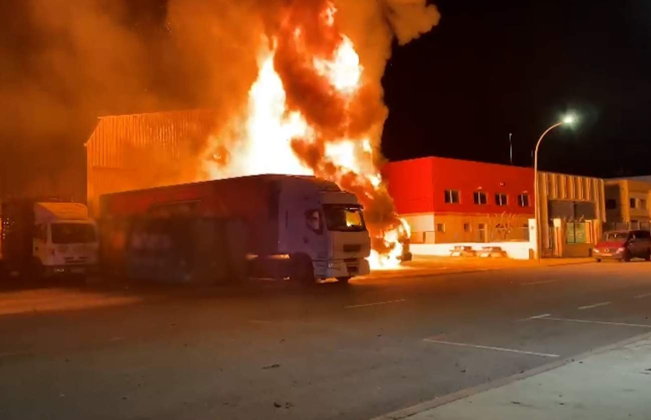
[[[370,419],[651,331],[649,316],[647,262],[0,292],[0,419]]]

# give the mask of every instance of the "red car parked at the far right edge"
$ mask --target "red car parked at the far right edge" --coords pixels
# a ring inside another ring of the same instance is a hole
[[[603,259],[630,261],[632,258],[643,258],[649,261],[651,260],[651,232],[605,232],[602,242],[592,250],[592,257],[597,262]]]

